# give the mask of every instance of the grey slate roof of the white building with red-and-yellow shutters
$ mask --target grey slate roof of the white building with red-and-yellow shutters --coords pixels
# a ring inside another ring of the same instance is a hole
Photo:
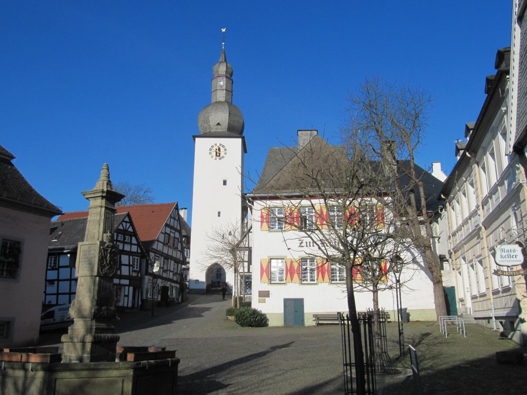
[[[302,174],[306,172],[306,164],[308,164],[310,174],[319,174],[321,179],[326,177],[329,180],[335,179],[335,175],[338,175],[341,167],[338,166],[338,163],[347,160],[346,147],[331,145],[318,135],[313,137],[305,149],[299,149],[299,147],[273,147],[269,149],[258,184],[251,191],[250,195],[294,193],[305,190],[305,182],[311,178],[309,176],[302,179]],[[374,166],[375,164],[373,163]],[[398,162],[398,181],[403,190],[406,189],[405,187],[409,183],[409,177],[405,174],[409,166],[410,161],[408,160]],[[436,200],[438,193],[443,187],[443,182],[417,164],[415,164],[415,172],[416,176],[424,184],[427,211],[435,211],[443,205],[442,202]],[[415,192],[417,210],[421,210],[420,195],[418,190]]]

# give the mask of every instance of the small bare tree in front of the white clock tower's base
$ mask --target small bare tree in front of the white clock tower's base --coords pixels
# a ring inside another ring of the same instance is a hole
[[[207,249],[200,262],[203,268],[208,268],[211,264],[217,263],[235,274],[235,283],[232,290],[233,306],[238,305],[238,303],[235,304],[235,301],[239,301],[240,298],[245,301],[245,274],[248,269],[247,235],[249,230],[243,229],[240,224],[231,222],[211,229],[207,233]]]

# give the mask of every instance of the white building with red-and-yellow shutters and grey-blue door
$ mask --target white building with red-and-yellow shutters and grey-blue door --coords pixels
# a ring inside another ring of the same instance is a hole
[[[322,215],[327,217],[324,221],[342,218],[342,223],[343,213],[333,212],[320,196],[298,197],[299,191],[292,190],[292,183],[287,192],[262,192],[266,190],[265,185],[272,184],[271,180],[277,180],[281,174],[287,174],[285,178],[292,176],[287,166],[306,142],[315,141],[313,146],[316,149],[318,144],[328,146],[316,131],[298,131],[298,137],[298,149],[279,147],[269,150],[260,183],[247,195],[252,208],[249,219],[252,224],[252,307],[266,313],[270,325],[310,325],[314,324],[313,314],[348,311],[345,268],[321,258],[324,253],[318,251],[316,243],[306,232],[298,231],[302,227],[324,226],[320,222]],[[442,185],[440,181],[438,183]],[[380,211],[384,209],[374,200],[370,204],[376,207],[379,228],[384,227],[385,214]],[[296,220],[288,219],[293,211],[298,217]],[[402,288],[403,308],[407,309],[412,320],[434,320],[430,272],[418,252],[407,253],[414,259],[406,264],[399,278],[405,283]],[[383,270],[382,264],[380,270]],[[363,281],[360,271],[353,270],[351,275],[356,284],[357,311],[372,308],[373,294],[360,287]],[[379,308],[388,311],[392,320],[397,318],[395,276],[393,271],[388,272],[383,290],[378,294]]]

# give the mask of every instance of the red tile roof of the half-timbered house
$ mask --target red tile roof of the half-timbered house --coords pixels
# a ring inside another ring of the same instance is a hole
[[[157,239],[159,232],[167,222],[174,207],[174,203],[157,203],[157,204],[135,204],[132,206],[117,206],[118,213],[129,212],[135,225],[135,230],[139,235],[141,242],[148,242]],[[75,211],[64,213],[56,221],[65,221],[75,218],[85,218],[88,216],[87,211]]]

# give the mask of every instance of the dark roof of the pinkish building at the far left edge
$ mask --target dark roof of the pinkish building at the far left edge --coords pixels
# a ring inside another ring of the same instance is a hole
[[[62,211],[35,191],[11,162],[15,156],[0,145],[0,204],[55,216]]]

